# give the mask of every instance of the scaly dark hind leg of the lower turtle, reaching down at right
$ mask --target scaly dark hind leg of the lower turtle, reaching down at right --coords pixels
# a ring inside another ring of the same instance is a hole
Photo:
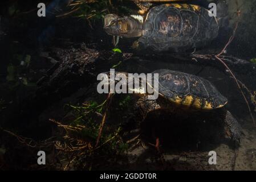
[[[228,137],[230,137],[236,146],[239,146],[242,135],[242,128],[237,122],[237,119],[227,110],[224,115],[224,127]]]

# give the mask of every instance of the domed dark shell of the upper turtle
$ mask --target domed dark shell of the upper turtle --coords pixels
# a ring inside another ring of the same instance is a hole
[[[165,4],[149,10],[139,49],[174,51],[205,46],[218,35],[216,17],[203,7]]]

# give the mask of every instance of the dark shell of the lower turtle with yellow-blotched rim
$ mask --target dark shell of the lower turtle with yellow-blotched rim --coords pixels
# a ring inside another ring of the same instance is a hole
[[[227,98],[204,78],[169,69],[159,69],[152,73],[159,73],[160,96],[176,105],[213,110],[227,104]]]

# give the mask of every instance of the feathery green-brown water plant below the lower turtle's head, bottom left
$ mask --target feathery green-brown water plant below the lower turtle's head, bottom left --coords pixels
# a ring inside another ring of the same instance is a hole
[[[66,105],[73,119],[65,123],[50,119],[65,130],[63,138],[55,142],[55,148],[59,150],[61,157],[70,160],[64,170],[71,166],[81,168],[81,165],[83,169],[90,170],[95,159],[110,154],[123,155],[128,150],[128,144],[120,136],[121,127],[105,126],[99,145],[96,145],[101,123],[95,117],[102,117],[106,104],[107,101],[101,104],[91,101],[81,106]]]

